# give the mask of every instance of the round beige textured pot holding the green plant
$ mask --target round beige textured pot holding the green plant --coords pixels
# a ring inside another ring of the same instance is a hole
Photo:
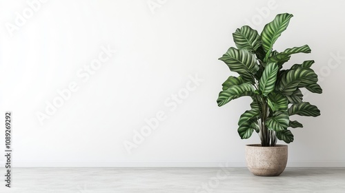
[[[288,162],[288,145],[246,145],[247,167],[256,176],[279,176]]]

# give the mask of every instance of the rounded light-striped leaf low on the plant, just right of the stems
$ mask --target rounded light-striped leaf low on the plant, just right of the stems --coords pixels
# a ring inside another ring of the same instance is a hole
[[[288,112],[278,111],[267,119],[266,126],[268,130],[279,132],[288,128],[288,121]]]

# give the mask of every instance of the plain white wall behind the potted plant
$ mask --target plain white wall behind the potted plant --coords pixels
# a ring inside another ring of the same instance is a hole
[[[154,14],[148,3],[159,5]],[[290,65],[314,59],[324,94],[305,98],[322,116],[296,118],[304,128],[293,130],[289,165],[345,166],[344,1],[50,0],[34,6],[30,17],[26,1],[0,1],[0,109],[14,114],[14,165],[245,165],[244,145],[259,137],[237,134],[248,99],[217,107],[221,83],[232,74],[217,59],[234,46],[236,28],[251,23],[261,32],[276,14],[290,12],[295,17],[275,48],[310,45],[312,53],[294,56]],[[23,11],[26,21],[18,20]],[[84,68],[95,65],[102,49],[117,52],[86,79]],[[195,76],[202,79],[197,85],[190,81]],[[57,90],[70,83],[77,88],[41,125],[37,113],[46,114],[46,102],[59,100]],[[179,92],[185,99],[172,102]],[[157,113],[164,121],[128,154],[124,142],[133,142]]]

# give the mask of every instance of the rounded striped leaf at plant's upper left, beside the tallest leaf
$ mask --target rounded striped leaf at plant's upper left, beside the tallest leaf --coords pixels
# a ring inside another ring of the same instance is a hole
[[[233,39],[238,49],[246,49],[248,52],[255,54],[255,50],[261,45],[261,38],[257,30],[249,26],[243,26],[233,33]]]

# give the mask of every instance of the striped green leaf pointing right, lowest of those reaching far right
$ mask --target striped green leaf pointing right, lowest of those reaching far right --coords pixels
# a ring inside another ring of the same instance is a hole
[[[320,110],[315,105],[311,105],[308,102],[302,102],[299,104],[293,104],[288,109],[288,114],[291,116],[293,114],[298,114],[301,116],[319,116]]]

